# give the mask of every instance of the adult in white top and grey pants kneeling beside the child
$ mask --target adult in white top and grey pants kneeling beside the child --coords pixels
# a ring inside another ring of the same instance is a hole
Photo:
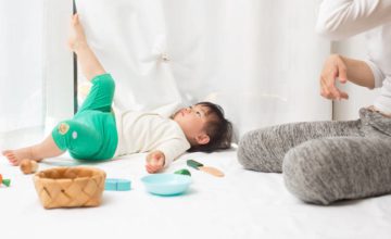
[[[391,192],[391,0],[324,0],[317,32],[333,40],[366,32],[368,59],[330,55],[320,95],[348,99],[336,83],[381,87],[374,105],[349,122],[293,123],[245,134],[238,159],[247,169],[282,172],[298,198],[316,204]]]

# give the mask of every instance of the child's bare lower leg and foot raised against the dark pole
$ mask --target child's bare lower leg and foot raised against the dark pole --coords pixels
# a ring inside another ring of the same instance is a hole
[[[81,72],[88,80],[105,73],[103,66],[87,43],[86,35],[77,14],[72,17],[68,46],[76,53]]]

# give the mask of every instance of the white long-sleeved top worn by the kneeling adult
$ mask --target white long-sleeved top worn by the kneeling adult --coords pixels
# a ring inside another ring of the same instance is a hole
[[[324,0],[316,30],[331,40],[367,32],[368,60],[375,87],[381,87],[374,105],[391,113],[391,0]]]

